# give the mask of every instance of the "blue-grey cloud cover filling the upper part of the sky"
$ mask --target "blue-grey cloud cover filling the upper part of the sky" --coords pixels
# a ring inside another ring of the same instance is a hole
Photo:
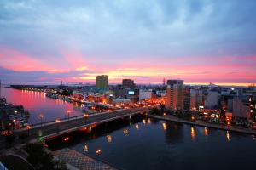
[[[253,0],[46,0],[0,4],[0,45],[35,57],[61,57],[61,48],[73,46],[87,54],[107,53],[113,58],[127,52],[134,56],[237,54],[234,48],[242,54],[255,54]]]

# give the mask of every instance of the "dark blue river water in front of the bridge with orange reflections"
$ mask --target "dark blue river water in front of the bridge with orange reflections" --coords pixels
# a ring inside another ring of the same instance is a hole
[[[212,128],[152,119],[119,120],[91,133],[69,134],[68,143],[64,137],[50,141],[49,148],[70,147],[122,169],[255,169],[252,135]]]

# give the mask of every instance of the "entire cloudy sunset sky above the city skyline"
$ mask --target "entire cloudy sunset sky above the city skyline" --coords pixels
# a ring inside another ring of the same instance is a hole
[[[0,0],[0,79],[256,83],[255,0]]]

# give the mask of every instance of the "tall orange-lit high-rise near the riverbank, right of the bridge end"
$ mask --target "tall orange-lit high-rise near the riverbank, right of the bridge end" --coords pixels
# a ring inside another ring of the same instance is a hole
[[[167,80],[166,108],[171,110],[183,110],[183,80]]]

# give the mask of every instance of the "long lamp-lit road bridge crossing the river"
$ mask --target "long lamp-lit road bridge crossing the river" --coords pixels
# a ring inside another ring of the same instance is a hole
[[[15,136],[28,134],[29,140],[36,140],[39,136],[44,140],[54,139],[66,133],[78,131],[84,127],[91,127],[104,122],[111,122],[120,118],[131,117],[140,113],[148,112],[148,107],[106,111],[92,116],[74,116],[55,122],[44,122],[31,127],[15,130]]]

